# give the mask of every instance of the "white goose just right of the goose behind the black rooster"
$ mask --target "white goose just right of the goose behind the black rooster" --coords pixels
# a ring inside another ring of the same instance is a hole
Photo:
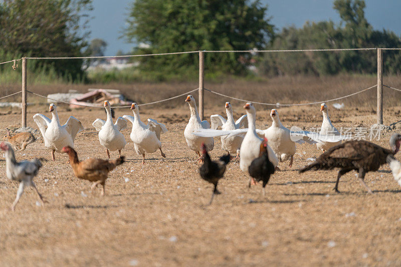
[[[269,140],[269,145],[272,147],[279,161],[282,162],[290,159],[289,167],[291,167],[297,146],[291,140],[290,130],[281,123],[279,113],[276,109],[272,109],[270,117],[273,123],[269,128],[264,130],[265,136]]]

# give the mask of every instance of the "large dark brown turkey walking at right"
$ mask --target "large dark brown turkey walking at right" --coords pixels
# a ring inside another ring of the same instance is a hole
[[[394,133],[390,138],[391,149],[383,148],[377,144],[364,140],[351,140],[329,148],[321,154],[315,162],[303,167],[299,172],[318,169],[340,168],[334,190],[338,192],[338,181],[340,177],[351,170],[356,170],[360,182],[369,193],[372,192],[364,182],[365,173],[377,170],[386,163],[387,155],[398,152],[401,142],[401,134]]]

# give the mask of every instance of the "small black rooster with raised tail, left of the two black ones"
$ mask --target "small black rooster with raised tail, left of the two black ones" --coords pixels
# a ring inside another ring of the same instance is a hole
[[[221,156],[217,161],[212,161],[208,151],[206,150],[205,143],[202,143],[200,150],[202,150],[204,156],[204,163],[199,168],[200,177],[215,185],[209,203],[212,204],[215,194],[220,194],[217,189],[217,183],[221,178],[223,178],[224,172],[226,171],[226,165],[230,162],[230,154]]]

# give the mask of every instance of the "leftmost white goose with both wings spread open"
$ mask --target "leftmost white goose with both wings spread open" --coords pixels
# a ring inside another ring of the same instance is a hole
[[[38,125],[45,147],[52,150],[52,159],[55,160],[54,152],[62,153],[64,146],[74,147],[75,136],[78,132],[84,130],[81,121],[73,116],[70,116],[64,125],[60,125],[57,107],[51,103],[49,111],[52,112],[52,119],[43,114],[35,114],[34,121]]]

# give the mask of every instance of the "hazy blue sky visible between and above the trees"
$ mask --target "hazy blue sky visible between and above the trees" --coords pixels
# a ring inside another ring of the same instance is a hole
[[[90,21],[91,38],[102,38],[107,43],[106,55],[115,55],[119,49],[130,51],[132,44],[120,39],[125,26],[128,6],[132,0],[94,0]],[[276,27],[295,25],[305,21],[340,20],[333,10],[332,0],[262,0],[269,6],[268,15]],[[401,0],[365,0],[365,16],[375,29],[388,29],[401,34]]]

